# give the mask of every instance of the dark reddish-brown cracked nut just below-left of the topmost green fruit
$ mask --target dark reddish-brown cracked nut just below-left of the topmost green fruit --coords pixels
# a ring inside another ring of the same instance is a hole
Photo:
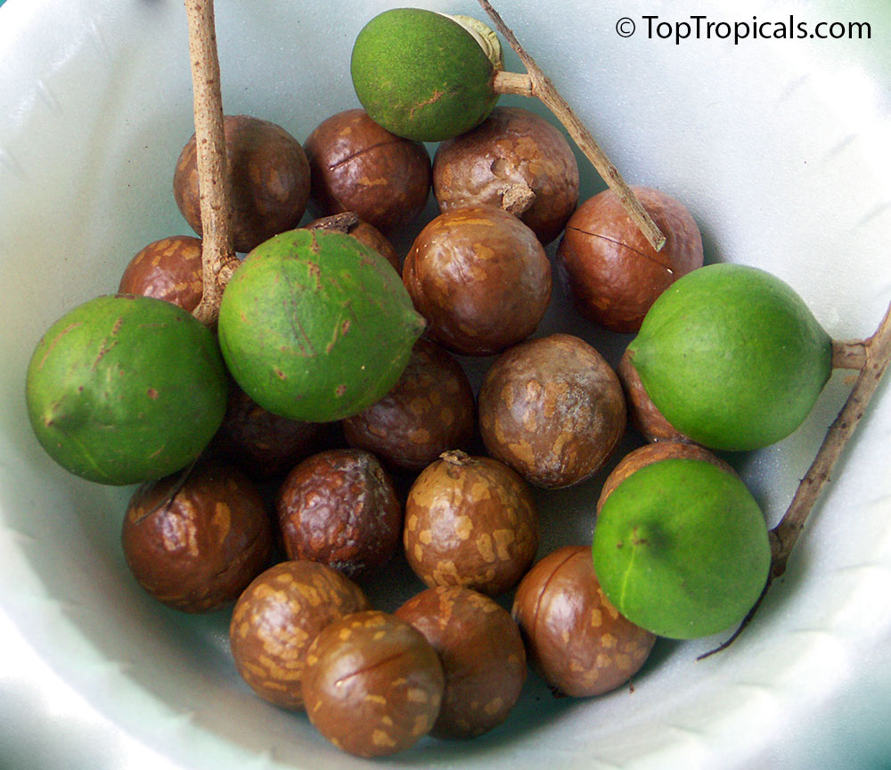
[[[325,119],[305,143],[311,206],[320,216],[355,211],[384,233],[417,217],[430,194],[430,156],[420,142],[390,134],[364,110]]]

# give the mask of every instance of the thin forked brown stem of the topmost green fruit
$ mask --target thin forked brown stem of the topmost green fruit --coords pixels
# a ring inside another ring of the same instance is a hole
[[[488,0],[479,0],[479,4],[482,5],[483,10],[495,22],[495,27],[507,39],[507,42],[527,69],[527,75],[500,70],[496,72],[493,83],[495,93],[535,96],[545,107],[552,111],[554,116],[563,124],[563,127],[567,129],[573,141],[578,145],[578,149],[584,152],[585,157],[592,162],[593,167],[603,177],[603,181],[609,185],[609,189],[617,194],[628,216],[631,217],[634,224],[637,225],[647,241],[650,242],[653,249],[661,250],[666,242],[665,235],[661,233],[656,223],[653,222],[647,209],[643,208],[641,201],[637,200],[637,196],[634,195],[632,189],[625,183],[625,179],[618,173],[618,169],[609,160],[606,152],[603,152],[591,132],[578,119],[576,113],[572,111],[567,101],[554,87],[550,78],[544,74],[523,46],[519,45],[519,40],[504,23],[498,12],[495,11],[495,8],[492,7]]]

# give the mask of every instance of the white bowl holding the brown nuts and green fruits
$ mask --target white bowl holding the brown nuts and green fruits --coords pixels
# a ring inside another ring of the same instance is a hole
[[[217,0],[226,111],[274,120],[302,141],[322,119],[356,106],[347,64],[353,39],[392,5]],[[427,6],[482,16],[470,0]],[[891,299],[885,0],[760,0],[738,10],[719,0],[499,0],[496,7],[627,179],[687,204],[709,261],[780,275],[837,338],[865,336],[879,323]],[[645,18],[658,16],[656,24],[705,15],[705,35],[707,21],[771,22],[762,29],[775,31],[790,14],[810,29],[821,21],[868,22],[871,39],[749,37],[734,45],[713,35],[675,45],[649,36]],[[617,34],[622,17],[635,21],[633,37]],[[508,63],[519,66],[512,54]],[[142,593],[119,547],[130,490],[69,477],[37,446],[27,422],[25,366],[49,324],[114,291],[123,266],[146,243],[189,232],[170,183],[192,133],[191,110],[179,0],[9,0],[0,10],[5,766],[366,764],[333,749],[304,715],[257,700],[229,659],[227,613],[184,617]],[[584,194],[602,187],[590,168],[583,185]],[[593,341],[613,363],[627,341],[607,340],[579,320],[560,291],[541,332],[558,328]],[[837,373],[810,419],[780,445],[733,458],[771,523],[850,381]],[[786,576],[729,650],[697,662],[721,638],[660,643],[633,692],[624,687],[596,700],[554,700],[532,676],[516,713],[493,733],[462,743],[425,739],[376,764],[525,770],[887,763],[887,391],[885,382]],[[590,538],[601,480],[548,496],[543,550]],[[386,591],[377,597],[384,605],[395,601]]]

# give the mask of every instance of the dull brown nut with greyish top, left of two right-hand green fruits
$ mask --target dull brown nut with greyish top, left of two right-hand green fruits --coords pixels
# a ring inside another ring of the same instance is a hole
[[[600,470],[625,433],[625,397],[600,353],[569,334],[506,350],[479,389],[490,455],[538,487],[568,487]]]

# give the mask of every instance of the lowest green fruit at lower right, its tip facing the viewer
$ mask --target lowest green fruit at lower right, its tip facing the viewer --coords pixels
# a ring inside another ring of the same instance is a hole
[[[693,639],[739,623],[767,581],[764,514],[732,473],[701,460],[644,466],[597,517],[594,571],[609,601],[653,634]]]

